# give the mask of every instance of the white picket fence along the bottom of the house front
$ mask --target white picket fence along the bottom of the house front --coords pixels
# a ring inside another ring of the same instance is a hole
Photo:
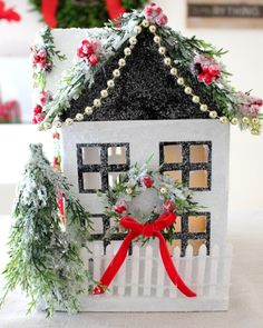
[[[89,245],[92,252],[82,249],[86,268],[99,280],[116,254],[119,242],[107,247],[103,255],[100,241]],[[172,255],[181,277],[196,294],[187,298],[167,277],[159,257],[158,243],[145,247],[135,245],[133,255],[126,258],[109,291],[99,296],[82,298],[82,310],[89,311],[202,311],[226,310],[231,280],[232,247],[224,249],[214,246],[210,256],[206,247],[193,256],[188,246],[185,257],[175,248]]]

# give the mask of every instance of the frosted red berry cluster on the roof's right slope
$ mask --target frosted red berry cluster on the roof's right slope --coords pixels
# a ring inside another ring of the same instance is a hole
[[[212,58],[202,54],[194,59],[194,70],[199,82],[211,85],[221,77],[220,64]]]

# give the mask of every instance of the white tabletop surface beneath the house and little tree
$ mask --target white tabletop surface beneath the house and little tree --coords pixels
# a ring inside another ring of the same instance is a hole
[[[10,218],[0,218],[0,268],[7,260]],[[230,241],[234,246],[231,305],[227,312],[191,314],[56,314],[47,321],[45,314],[26,316],[27,300],[19,291],[0,310],[0,328],[262,328],[263,327],[263,212],[232,213]],[[0,278],[0,286],[3,284]]]

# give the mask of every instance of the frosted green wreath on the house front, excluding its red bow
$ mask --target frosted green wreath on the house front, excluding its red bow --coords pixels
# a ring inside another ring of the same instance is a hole
[[[124,217],[133,217],[140,225],[155,222],[163,213],[172,212],[195,215],[201,206],[193,200],[192,191],[158,170],[150,170],[148,161],[139,167],[133,166],[127,172],[120,173],[113,188],[100,193],[105,201],[105,215],[114,219],[114,225],[106,231],[105,238],[125,232],[120,223]],[[166,227],[163,235],[166,240],[174,239],[175,225]],[[139,239],[146,241],[146,236]]]

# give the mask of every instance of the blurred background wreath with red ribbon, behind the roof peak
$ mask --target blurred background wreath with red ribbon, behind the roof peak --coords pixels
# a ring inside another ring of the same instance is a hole
[[[29,0],[29,2],[35,10],[42,13],[50,27],[94,28],[103,27],[108,19],[116,19],[125,11],[144,7],[146,0]],[[50,17],[51,13],[45,14],[45,9],[55,14],[56,22]]]

